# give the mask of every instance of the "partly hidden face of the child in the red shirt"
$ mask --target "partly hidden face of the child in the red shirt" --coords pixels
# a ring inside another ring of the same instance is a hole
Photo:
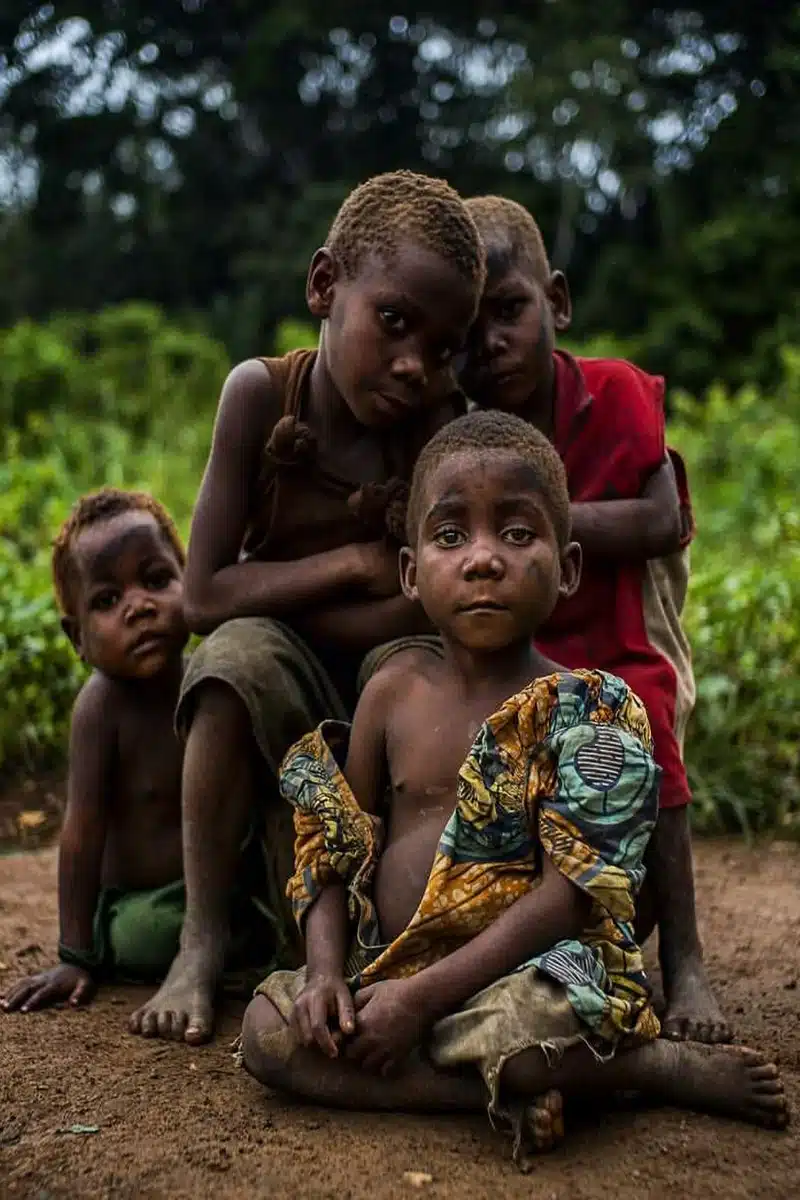
[[[492,259],[489,253],[489,265]],[[461,379],[469,398],[510,413],[548,404],[555,334],[569,329],[570,318],[560,271],[542,283],[524,263],[495,265],[469,336]]]

